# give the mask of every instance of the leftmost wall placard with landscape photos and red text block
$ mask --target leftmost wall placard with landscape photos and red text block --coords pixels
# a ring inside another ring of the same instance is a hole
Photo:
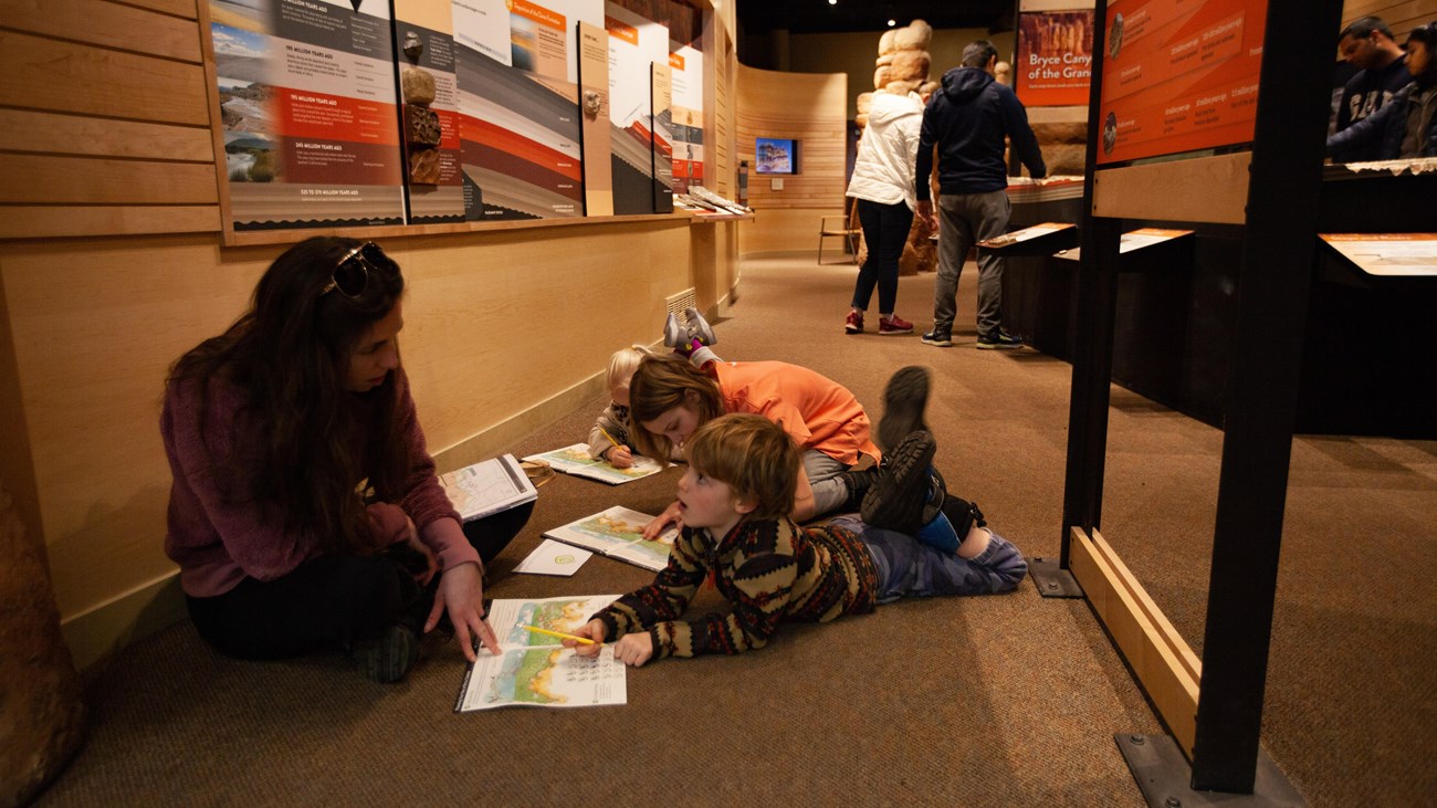
[[[404,223],[388,0],[210,0],[234,230]]]

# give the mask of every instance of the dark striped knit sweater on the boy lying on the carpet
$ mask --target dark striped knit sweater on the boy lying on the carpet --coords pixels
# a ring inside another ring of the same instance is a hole
[[[710,572],[731,611],[678,620]],[[593,617],[611,641],[648,630],[654,658],[737,654],[766,646],[780,623],[874,611],[877,591],[874,559],[848,529],[744,519],[717,543],[708,531],[684,528],[654,584]]]

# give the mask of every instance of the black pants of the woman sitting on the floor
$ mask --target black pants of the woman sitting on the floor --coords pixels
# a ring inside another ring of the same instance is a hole
[[[535,503],[476,519],[464,538],[487,565],[533,513]],[[312,558],[274,581],[246,578],[213,598],[185,597],[207,643],[247,660],[295,657],[374,637],[397,623],[420,627],[434,604],[438,577],[420,588],[391,554]]]

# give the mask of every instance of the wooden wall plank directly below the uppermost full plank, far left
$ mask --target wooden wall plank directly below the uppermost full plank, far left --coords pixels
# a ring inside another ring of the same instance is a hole
[[[200,65],[0,32],[0,105],[210,125]]]

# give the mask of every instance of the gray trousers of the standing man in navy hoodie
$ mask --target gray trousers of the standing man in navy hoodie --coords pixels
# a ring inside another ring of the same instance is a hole
[[[938,196],[938,279],[933,285],[933,328],[953,332],[958,275],[976,242],[1002,236],[1013,206],[1007,191]],[[1003,325],[1003,259],[979,257],[979,336]]]

